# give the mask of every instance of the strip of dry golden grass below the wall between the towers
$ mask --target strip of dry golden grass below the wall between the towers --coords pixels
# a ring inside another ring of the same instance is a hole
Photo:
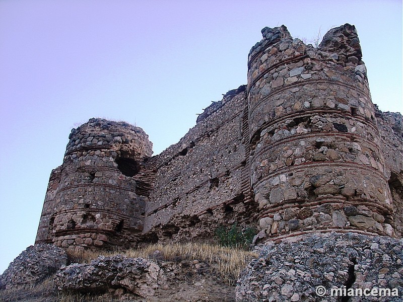
[[[257,254],[237,248],[227,248],[205,243],[174,243],[169,245],[153,244],[141,249],[130,249],[119,252],[89,251],[70,254],[69,256],[79,263],[90,263],[98,256],[113,256],[117,254],[129,258],[153,258],[156,251],[166,261],[198,260],[209,264],[212,271],[218,272],[225,284],[233,285],[241,270],[246,267]]]

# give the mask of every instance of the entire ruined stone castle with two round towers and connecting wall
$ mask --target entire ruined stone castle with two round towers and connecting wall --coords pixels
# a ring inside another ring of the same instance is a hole
[[[257,240],[312,232],[401,238],[403,131],[374,107],[354,26],[315,48],[264,28],[248,84],[157,156],[139,127],[90,119],[50,175],[36,243],[129,248],[203,239],[219,224]]]

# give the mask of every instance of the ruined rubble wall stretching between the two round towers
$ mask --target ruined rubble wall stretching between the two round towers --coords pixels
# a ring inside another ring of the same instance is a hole
[[[185,240],[209,236],[218,224],[250,223],[247,122],[241,86],[207,108],[195,127],[156,157],[145,233]]]

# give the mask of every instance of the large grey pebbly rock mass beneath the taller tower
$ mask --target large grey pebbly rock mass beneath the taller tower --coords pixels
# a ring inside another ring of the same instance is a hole
[[[403,293],[403,240],[355,233],[315,234],[301,241],[258,246],[254,259],[241,273],[236,287],[237,302],[340,301],[344,290],[389,288],[382,301],[401,301]],[[315,290],[322,286],[326,293]],[[341,289],[338,296],[331,288]],[[398,296],[393,296],[397,289]],[[348,296],[347,296],[348,297]],[[352,298],[367,301],[370,297]]]

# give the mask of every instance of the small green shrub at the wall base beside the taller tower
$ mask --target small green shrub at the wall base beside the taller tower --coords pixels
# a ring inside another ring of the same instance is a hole
[[[253,237],[257,231],[253,227],[241,229],[235,222],[230,228],[224,225],[219,226],[215,231],[215,237],[218,244],[224,247],[237,247],[242,249],[249,249]]]

